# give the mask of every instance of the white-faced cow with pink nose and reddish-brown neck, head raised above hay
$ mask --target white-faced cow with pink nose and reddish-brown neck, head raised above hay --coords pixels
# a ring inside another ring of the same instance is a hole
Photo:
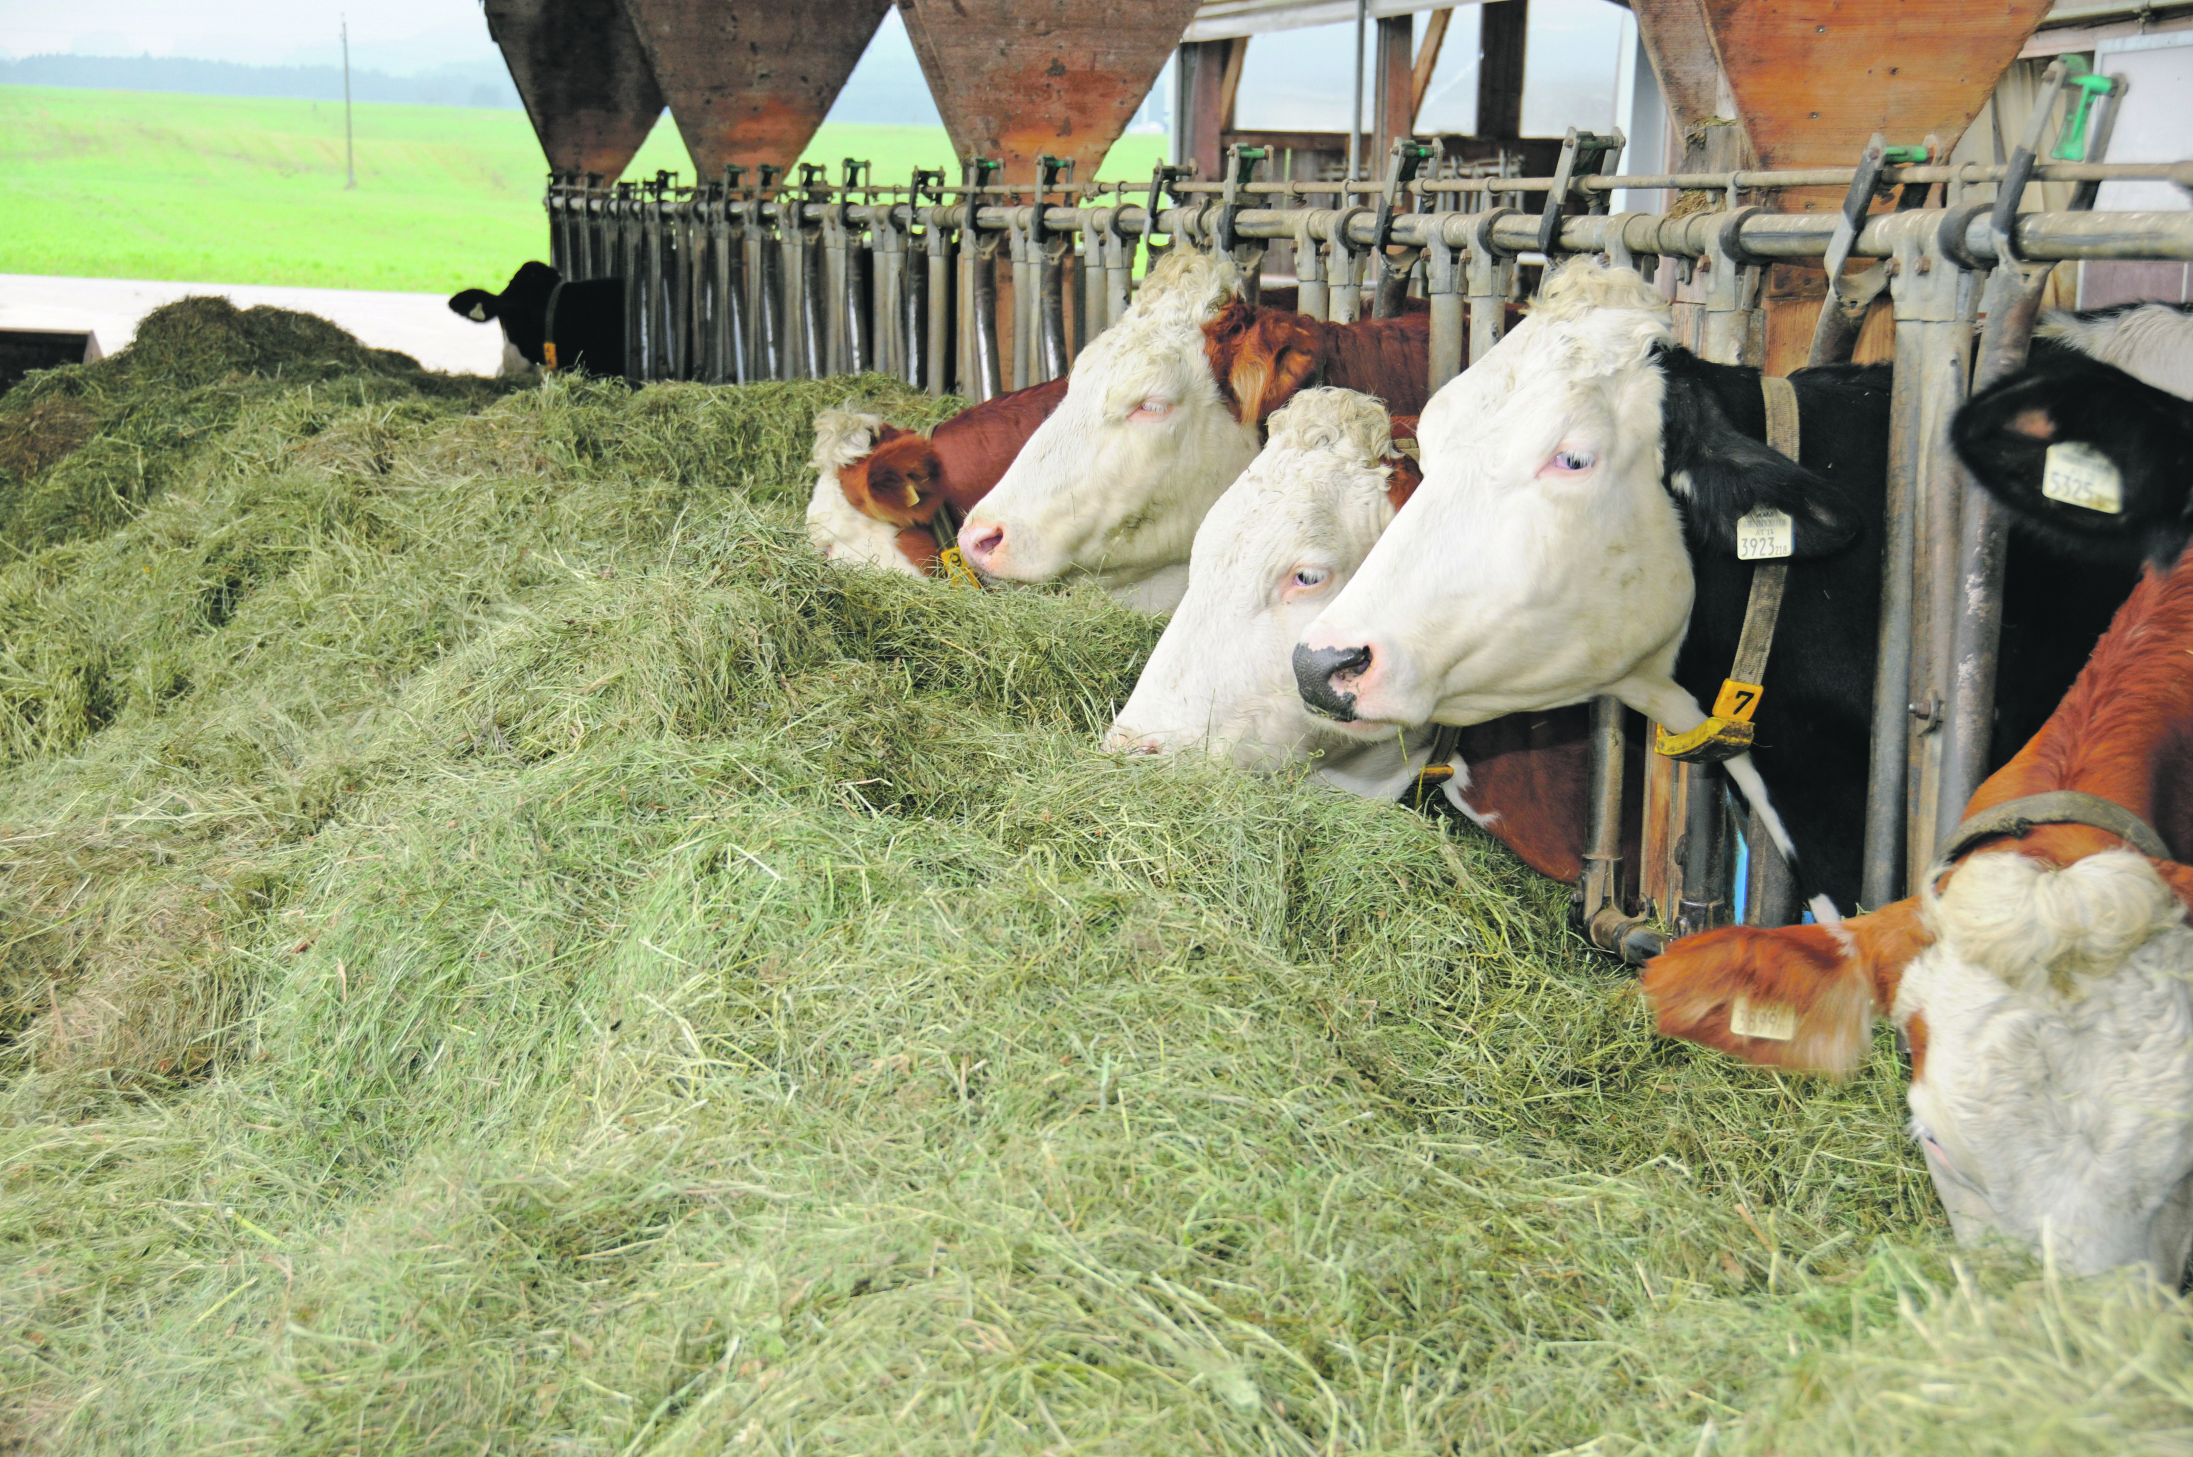
[[[1425,314],[1331,325],[1248,305],[1224,255],[1178,250],[1134,305],[1090,340],[1066,399],[961,524],[989,577],[1088,575],[1121,599],[1171,610],[1211,502],[1296,391],[1333,384],[1414,415],[1428,393]]]

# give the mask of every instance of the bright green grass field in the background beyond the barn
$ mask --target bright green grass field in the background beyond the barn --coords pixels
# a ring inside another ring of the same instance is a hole
[[[546,162],[522,112],[0,86],[0,272],[456,292],[546,252]],[[1164,138],[1110,158],[1149,176]],[[950,165],[943,127],[833,127],[807,160]],[[664,118],[629,176],[693,162]],[[1110,176],[1110,173],[1105,173]]]

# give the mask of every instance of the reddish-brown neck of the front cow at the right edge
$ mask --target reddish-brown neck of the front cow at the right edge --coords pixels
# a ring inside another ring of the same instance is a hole
[[[2015,801],[2064,792],[2154,827],[2151,845],[2171,862],[2193,851],[2193,549],[2169,575],[2140,577],[2057,711],[1972,797],[1967,823],[1996,812],[2018,818]],[[2123,829],[2029,821],[2020,843],[2068,865],[2129,840]],[[2158,869],[2193,904],[2193,871]]]

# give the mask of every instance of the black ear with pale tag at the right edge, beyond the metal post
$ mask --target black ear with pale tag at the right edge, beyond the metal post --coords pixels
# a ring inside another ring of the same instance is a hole
[[[1974,481],[2064,546],[2169,571],[2193,535],[2193,404],[2101,360],[2053,353],[1980,391],[1950,439]],[[2053,448],[2070,448],[2059,496],[2068,483],[2094,505],[2046,494]]]

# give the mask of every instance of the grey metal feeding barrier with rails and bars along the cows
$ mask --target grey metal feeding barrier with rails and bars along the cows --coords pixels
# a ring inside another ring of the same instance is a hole
[[[2042,123],[2061,90],[2075,105],[2044,160]],[[1774,263],[1827,266],[1814,364],[1847,360],[1886,292],[1895,384],[1862,882],[1862,902],[1882,906],[1917,884],[1987,772],[2004,524],[1950,452],[1950,419],[2024,360],[2055,263],[2193,261],[2193,213],[2092,211],[2105,180],[2193,191],[2193,160],[2090,160],[2107,136],[2107,94],[2059,61],[2033,127],[1998,165],[1950,167],[1932,140],[1888,147],[1875,136],[1855,167],[1607,176],[1621,132],[1570,132],[1550,178],[1482,176],[1421,138],[1397,138],[1375,182],[1259,182],[1263,154],[1232,147],[1215,180],[1160,165],[1134,193],[1075,187],[1053,158],[1035,187],[998,184],[987,158],[967,158],[958,184],[941,171],[875,184],[853,160],[838,182],[820,167],[792,180],[763,167],[752,184],[730,167],[697,187],[671,173],[614,187],[559,173],[548,219],[557,270],[625,279],[636,380],[882,371],[974,399],[998,395],[1007,377],[1018,388],[1064,375],[1127,309],[1143,248],[1151,263],[1182,246],[1228,252],[1254,296],[1265,250],[1285,244],[1296,305],[1336,323],[1366,303],[1395,316],[1421,296],[1434,391],[1500,342],[1507,305],[1559,255],[1603,255],[1645,276],[1667,259],[1675,338],[1722,364],[1763,362],[1761,274]],[[2075,202],[2020,213],[2026,182],[2072,182]],[[1667,213],[1610,213],[1618,189],[1686,197]],[[1844,206],[1772,213],[1752,202],[1789,189],[1844,189]],[[1873,211],[1882,197],[1893,206]],[[1708,206],[1689,206],[1700,200]],[[1853,261],[1868,263],[1847,270]],[[1728,924],[1735,816],[1715,764],[1647,755],[1643,865],[1625,893],[1623,720],[1612,698],[1592,704],[1592,847],[1577,915],[1597,946],[1643,959],[1660,946],[1656,926],[1689,935]],[[1743,838],[1743,919],[1787,924],[1798,897],[1781,858],[1757,825]]]

